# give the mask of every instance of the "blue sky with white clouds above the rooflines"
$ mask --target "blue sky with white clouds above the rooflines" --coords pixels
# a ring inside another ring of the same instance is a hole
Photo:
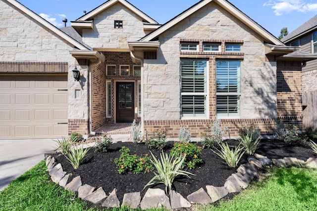
[[[70,21],[100,6],[106,0],[18,0],[56,27],[64,26],[63,18]],[[164,24],[199,0],[128,0],[148,16]],[[264,27],[275,37],[283,27],[291,33],[317,15],[317,0],[228,0],[238,9]]]

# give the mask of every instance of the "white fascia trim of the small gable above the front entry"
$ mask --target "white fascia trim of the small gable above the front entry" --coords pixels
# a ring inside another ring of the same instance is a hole
[[[121,3],[128,9],[130,9],[132,12],[134,12],[136,15],[140,16],[144,21],[148,23],[158,24],[154,19],[152,19],[150,16],[133,6],[131,3],[129,3],[126,0],[108,0],[104,4],[98,6],[97,8],[93,9],[92,11],[86,13],[85,15],[78,18],[76,21],[87,21],[91,20],[94,16],[98,15],[99,13],[103,12],[107,8],[111,7],[112,5],[116,3]]]

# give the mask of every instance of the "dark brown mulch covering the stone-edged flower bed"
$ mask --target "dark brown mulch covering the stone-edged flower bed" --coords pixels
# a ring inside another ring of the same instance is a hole
[[[236,145],[236,140],[227,140],[229,145]],[[197,143],[198,146],[201,143]],[[72,173],[73,177],[81,176],[83,184],[89,184],[96,188],[103,187],[106,194],[110,193],[114,188],[117,189],[117,197],[122,203],[123,195],[125,193],[139,192],[143,197],[146,190],[145,184],[150,181],[154,176],[154,173],[146,174],[119,174],[117,167],[114,164],[114,159],[119,158],[122,146],[126,146],[130,149],[131,154],[145,155],[149,154],[149,149],[144,144],[134,144],[132,142],[118,142],[110,146],[107,153],[95,153],[94,148],[88,152],[88,158],[90,160],[81,165],[79,169],[74,170],[72,166],[65,159],[65,156],[57,156],[57,162],[60,163],[64,171]],[[164,152],[168,153],[173,142],[167,142]],[[152,150],[156,157],[159,157],[159,152]],[[267,140],[264,139],[260,142],[260,147],[256,153],[267,156],[268,158],[284,158],[284,157],[296,157],[298,159],[307,160],[310,157],[314,157],[314,153],[310,146],[290,146],[282,141]],[[196,174],[191,176],[191,179],[180,178],[174,182],[174,189],[179,192],[183,197],[187,197],[189,194],[197,191],[201,187],[205,189],[206,185],[223,186],[226,179],[236,172],[236,168],[229,168],[223,160],[221,160],[215,153],[209,149],[203,149],[203,161],[204,164],[194,170],[188,170]],[[244,155],[239,165],[247,162],[247,155]],[[161,188],[164,190],[163,185],[156,185],[152,188]]]

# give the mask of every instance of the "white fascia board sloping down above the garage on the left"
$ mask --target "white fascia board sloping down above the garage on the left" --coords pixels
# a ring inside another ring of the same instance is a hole
[[[4,1],[7,1],[7,2],[11,3],[12,5],[17,7],[21,11],[25,12],[25,14],[27,14],[28,16],[30,16],[31,18],[33,18],[34,20],[36,20],[37,22],[39,22],[43,26],[47,27],[53,33],[55,33],[56,35],[58,35],[59,37],[61,37],[65,41],[69,42],[70,44],[74,45],[78,49],[88,50],[87,47],[85,47],[84,45],[82,45],[79,42],[75,41],[74,39],[72,39],[71,37],[69,37],[68,35],[63,33],[62,31],[60,31],[58,28],[53,26],[51,23],[49,23],[48,21],[46,21],[45,19],[40,17],[38,14],[34,13],[32,10],[30,10],[29,8],[27,8],[23,4],[19,3],[18,1],[16,1],[16,0],[4,0]]]

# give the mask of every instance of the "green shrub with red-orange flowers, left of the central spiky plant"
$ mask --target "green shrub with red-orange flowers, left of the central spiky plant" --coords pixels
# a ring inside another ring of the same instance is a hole
[[[133,172],[135,174],[149,173],[154,170],[151,157],[149,157],[148,154],[146,154],[145,157],[130,155],[130,149],[127,147],[122,147],[119,152],[121,152],[120,158],[114,159],[119,174],[127,172]]]

